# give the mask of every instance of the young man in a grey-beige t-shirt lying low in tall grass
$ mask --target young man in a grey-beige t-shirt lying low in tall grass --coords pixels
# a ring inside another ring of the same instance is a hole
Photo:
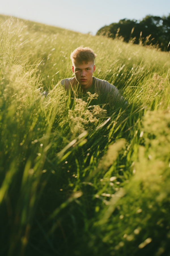
[[[75,74],[73,78],[65,78],[61,84],[65,90],[75,91],[76,85],[79,86],[82,93],[90,91],[92,94],[97,93],[101,103],[111,103],[122,101],[118,89],[105,80],[93,76],[95,72],[95,57],[97,55],[88,47],[78,47],[71,53],[72,71]],[[107,102],[106,102],[107,101]]]

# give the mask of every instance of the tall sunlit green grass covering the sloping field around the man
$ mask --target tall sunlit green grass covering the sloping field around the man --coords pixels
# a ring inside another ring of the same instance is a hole
[[[170,255],[169,53],[0,20],[1,255]],[[66,94],[78,46],[126,108]]]

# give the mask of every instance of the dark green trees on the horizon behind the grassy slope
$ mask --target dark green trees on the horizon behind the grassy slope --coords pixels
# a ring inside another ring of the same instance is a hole
[[[118,23],[104,26],[96,35],[122,38],[125,42],[154,45],[162,51],[170,50],[170,14],[166,16],[147,15],[143,20],[123,19]]]

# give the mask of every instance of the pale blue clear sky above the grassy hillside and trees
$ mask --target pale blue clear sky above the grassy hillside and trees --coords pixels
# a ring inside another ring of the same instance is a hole
[[[0,0],[0,13],[95,35],[120,19],[167,16],[170,0]]]

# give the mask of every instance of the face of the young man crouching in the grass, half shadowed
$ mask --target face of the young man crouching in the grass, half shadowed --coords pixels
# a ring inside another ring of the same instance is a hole
[[[95,65],[93,62],[82,64],[74,63],[72,66],[72,71],[75,73],[75,78],[77,82],[81,85],[83,90],[88,90],[92,85],[93,72],[95,71]]]

